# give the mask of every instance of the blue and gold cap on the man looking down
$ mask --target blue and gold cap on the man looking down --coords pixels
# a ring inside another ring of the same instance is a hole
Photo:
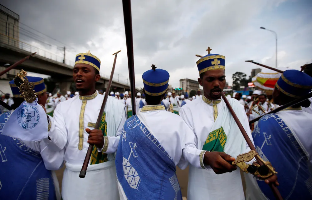
[[[212,49],[208,46],[208,54],[200,58],[196,64],[199,74],[209,70],[225,70],[225,56],[210,53]]]

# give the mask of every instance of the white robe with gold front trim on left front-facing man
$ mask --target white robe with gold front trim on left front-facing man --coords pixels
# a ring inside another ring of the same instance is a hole
[[[92,127],[95,126],[103,99],[104,95],[96,92],[91,96],[75,96],[61,102],[54,111],[54,117],[50,117],[51,130],[48,135],[51,140],[45,140],[45,143],[55,151],[65,148],[66,169],[62,182],[64,200],[119,199],[113,153],[117,148],[119,135],[126,119],[124,105],[114,97],[108,97],[104,109],[108,136],[104,136],[106,145],[103,146],[103,150],[107,149],[105,152],[109,153],[108,161],[89,164],[85,178],[79,178],[89,146],[85,129],[93,129]]]

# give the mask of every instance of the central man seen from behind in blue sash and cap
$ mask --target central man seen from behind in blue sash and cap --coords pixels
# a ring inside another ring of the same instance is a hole
[[[175,166],[184,169],[190,162],[200,168],[203,151],[196,149],[193,132],[183,119],[160,105],[169,73],[155,67],[142,78],[147,105],[124,124],[116,152],[120,198],[182,200]]]

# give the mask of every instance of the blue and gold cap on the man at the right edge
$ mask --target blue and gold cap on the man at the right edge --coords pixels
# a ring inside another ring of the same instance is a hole
[[[312,77],[298,70],[286,70],[275,86],[287,96],[300,98],[311,91]]]

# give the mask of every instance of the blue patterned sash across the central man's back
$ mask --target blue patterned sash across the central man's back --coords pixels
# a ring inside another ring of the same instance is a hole
[[[136,115],[124,124],[115,164],[128,200],[182,200],[172,158]]]

